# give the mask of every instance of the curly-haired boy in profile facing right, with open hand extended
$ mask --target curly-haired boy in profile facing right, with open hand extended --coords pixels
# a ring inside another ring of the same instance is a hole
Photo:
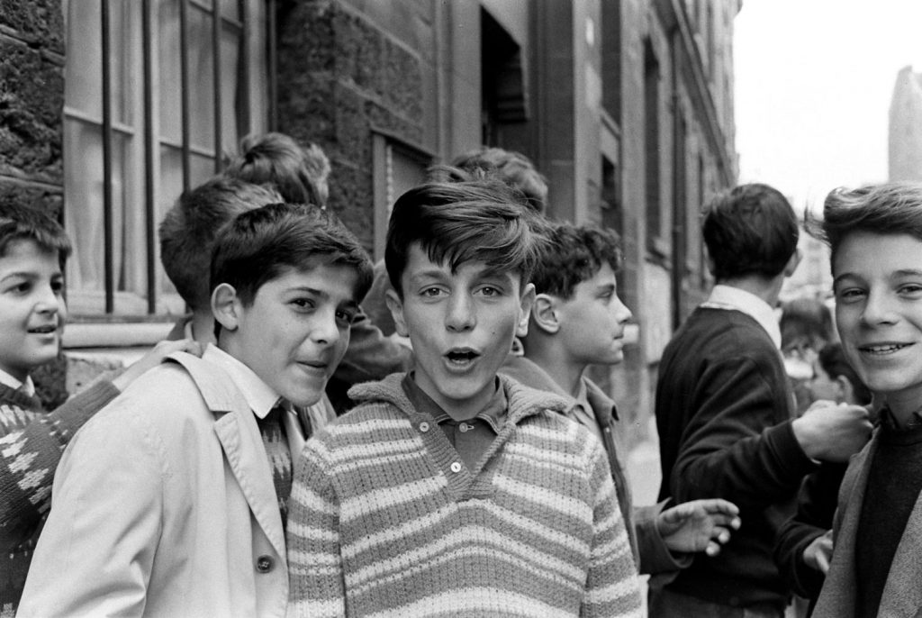
[[[665,511],[662,504],[632,509],[613,435],[615,403],[585,375],[590,364],[623,360],[622,338],[631,310],[618,298],[617,233],[558,223],[545,235],[548,242],[531,279],[537,296],[522,339],[525,358],[507,363],[501,373],[574,399],[567,415],[605,447],[641,573],[677,570],[691,563],[686,553],[716,555],[729,539],[729,529],[739,528],[736,506],[725,500],[696,500]]]

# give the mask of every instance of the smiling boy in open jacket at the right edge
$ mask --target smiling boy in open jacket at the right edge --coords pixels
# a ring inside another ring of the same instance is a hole
[[[881,403],[842,481],[818,618],[922,613],[922,184],[833,191],[835,322],[845,357]]]

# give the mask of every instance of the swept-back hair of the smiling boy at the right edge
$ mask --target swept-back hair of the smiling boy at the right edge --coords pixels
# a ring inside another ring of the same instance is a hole
[[[807,213],[807,231],[829,244],[833,258],[852,232],[909,234],[922,242],[922,183],[834,189],[826,196],[822,220]]]

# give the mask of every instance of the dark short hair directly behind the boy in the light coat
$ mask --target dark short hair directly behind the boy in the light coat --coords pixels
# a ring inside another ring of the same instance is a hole
[[[220,227],[246,210],[280,201],[267,186],[216,176],[183,191],[160,221],[160,262],[192,309],[210,304],[207,273]]]

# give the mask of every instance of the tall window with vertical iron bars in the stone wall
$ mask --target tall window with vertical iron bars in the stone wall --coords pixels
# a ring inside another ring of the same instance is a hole
[[[71,313],[183,313],[157,224],[242,135],[266,130],[265,0],[64,6]]]

